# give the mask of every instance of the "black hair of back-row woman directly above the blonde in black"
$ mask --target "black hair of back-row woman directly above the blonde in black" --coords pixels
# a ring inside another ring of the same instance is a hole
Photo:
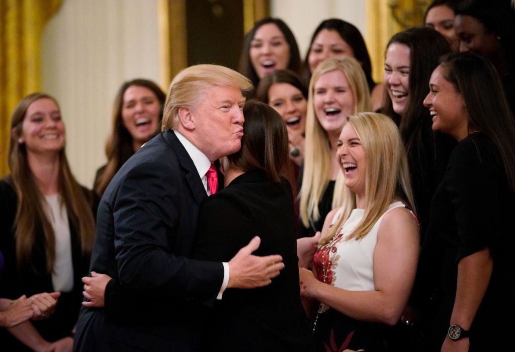
[[[328,19],[322,21],[322,23],[320,23],[313,32],[310,46],[308,46],[306,57],[304,58],[304,63],[302,64],[304,80],[309,82],[311,79],[312,72],[310,71],[308,57],[310,56],[311,46],[313,45],[315,38],[318,36],[318,33],[320,33],[322,29],[334,30],[338,32],[341,39],[349,44],[349,46],[352,48],[352,51],[354,52],[354,58],[357,60],[357,62],[359,62],[359,64],[361,64],[363,72],[365,72],[368,87],[370,91],[372,91],[372,88],[375,86],[375,82],[372,79],[372,64],[370,63],[370,55],[368,54],[365,40],[363,39],[361,32],[359,32],[359,29],[357,29],[356,26],[340,19]]]

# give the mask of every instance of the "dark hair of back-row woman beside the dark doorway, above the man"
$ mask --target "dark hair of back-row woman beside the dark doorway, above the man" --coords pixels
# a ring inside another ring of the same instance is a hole
[[[268,23],[273,23],[276,25],[279,30],[283,33],[284,39],[286,40],[286,43],[289,45],[289,55],[290,59],[288,62],[287,69],[290,69],[293,72],[300,73],[300,54],[299,54],[299,46],[297,45],[297,41],[295,40],[295,36],[293,35],[293,32],[291,32],[291,29],[286,25],[286,23],[283,22],[281,19],[275,19],[272,17],[266,17],[263,20],[260,20],[254,24],[254,27],[246,34],[244,40],[243,40],[243,48],[242,53],[239,56],[239,65],[238,65],[238,72],[247,77],[252,81],[252,84],[254,87],[258,85],[260,78],[258,77],[258,74],[256,73],[254,66],[252,66],[252,62],[250,62],[250,43],[252,42],[252,39],[254,39],[256,31],[258,29]]]

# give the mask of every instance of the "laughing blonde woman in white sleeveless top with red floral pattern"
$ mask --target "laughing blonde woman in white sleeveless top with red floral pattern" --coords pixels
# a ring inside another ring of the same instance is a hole
[[[344,204],[327,216],[301,294],[315,298],[319,349],[383,350],[384,325],[398,322],[415,278],[419,228],[402,139],[390,118],[349,116],[338,138]]]

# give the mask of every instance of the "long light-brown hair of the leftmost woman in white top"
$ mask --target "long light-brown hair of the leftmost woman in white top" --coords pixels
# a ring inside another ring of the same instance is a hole
[[[59,106],[53,97],[43,93],[30,94],[16,105],[11,117],[12,133],[8,156],[11,177],[8,180],[18,198],[14,221],[17,265],[19,267],[30,265],[32,248],[36,242],[36,228],[41,226],[45,234],[45,269],[46,273],[51,273],[56,258],[54,229],[45,214],[44,198],[29,167],[25,144],[18,143],[27,109],[30,104],[39,99],[52,99]],[[89,255],[95,235],[95,221],[91,207],[92,199],[86,199],[81,186],[73,177],[66,160],[64,147],[59,151],[58,188],[61,200],[66,206],[69,220],[78,229],[82,253]]]

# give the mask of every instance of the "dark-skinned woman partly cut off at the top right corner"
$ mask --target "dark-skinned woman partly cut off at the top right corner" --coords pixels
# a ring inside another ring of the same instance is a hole
[[[468,0],[456,8],[459,52],[471,51],[492,62],[515,115],[515,10],[509,0]]]

